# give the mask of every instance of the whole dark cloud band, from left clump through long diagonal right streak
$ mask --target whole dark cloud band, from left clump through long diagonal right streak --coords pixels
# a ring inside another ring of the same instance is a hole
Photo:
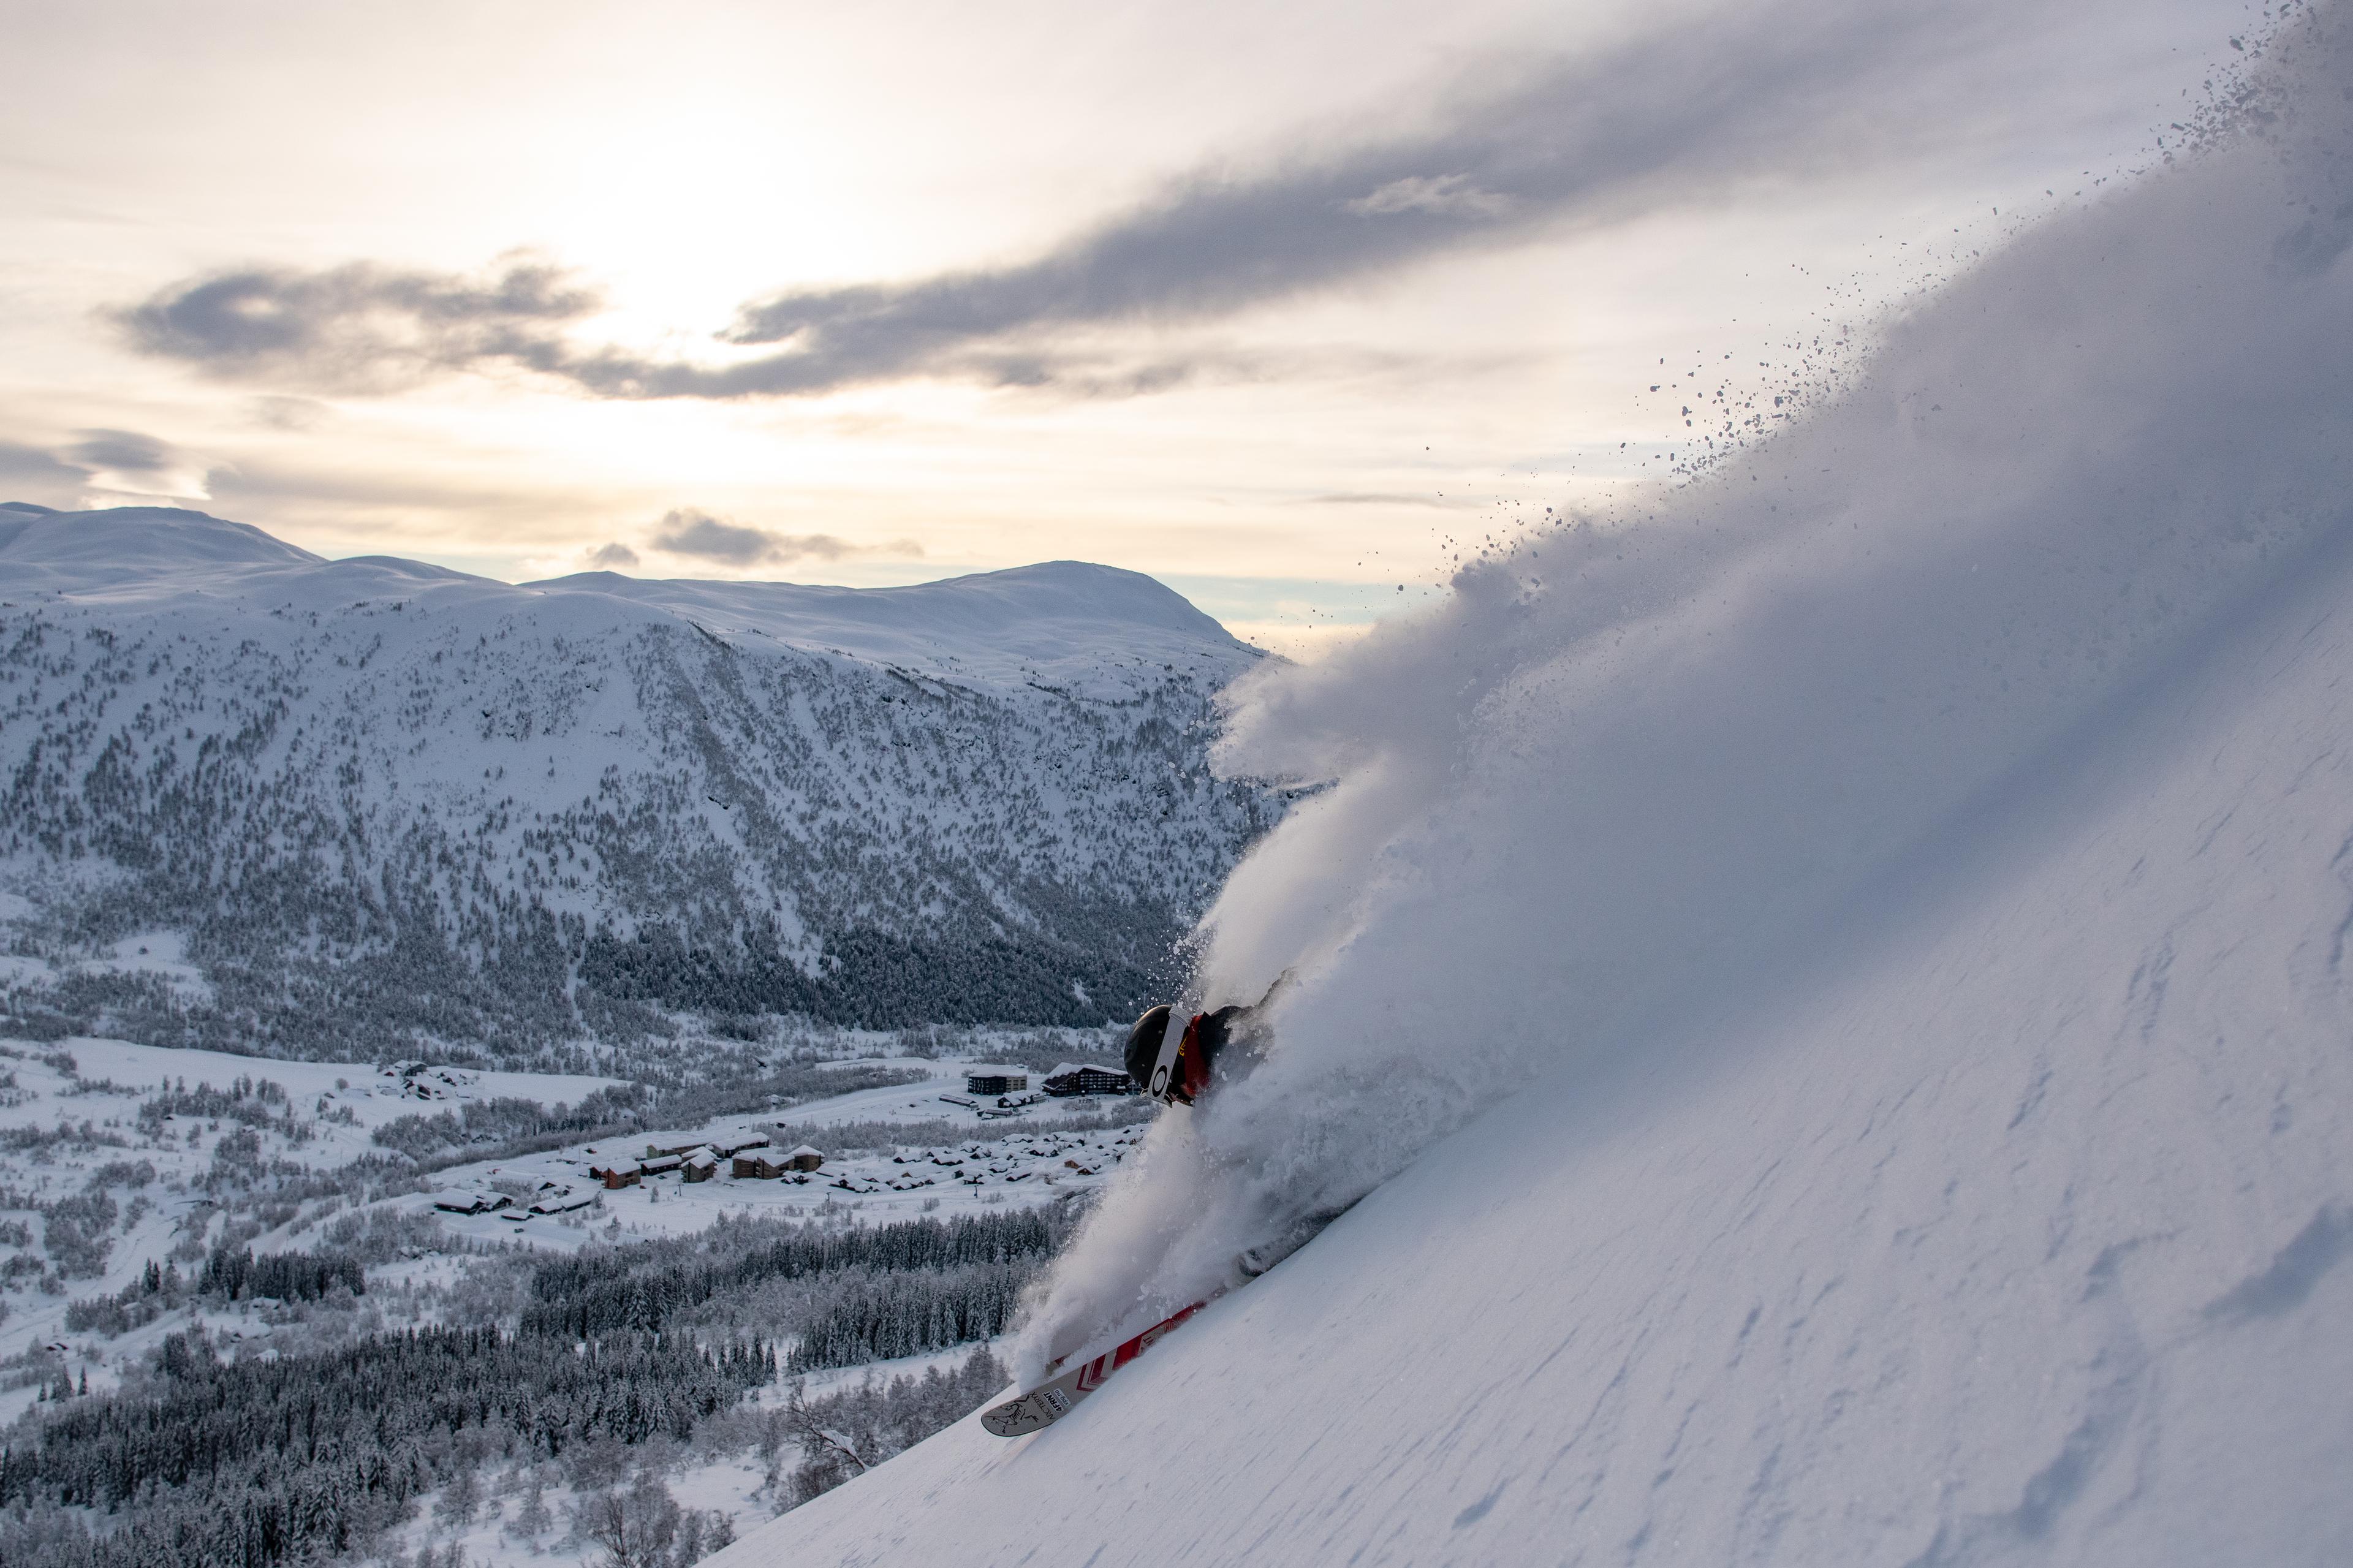
[[[482,283],[374,266],[249,268],[174,285],[120,320],[148,353],[313,384],[506,363],[607,398],[800,396],[906,377],[1165,391],[1233,367],[1184,356],[1106,363],[1101,334],[1226,318],[1442,254],[1704,200],[1748,177],[1951,146],[1974,118],[1995,115],[1981,92],[1991,73],[2049,52],[2047,33],[2028,26],[2035,14],[2024,0],[1784,0],[1685,16],[1515,68],[1501,87],[1457,94],[1417,134],[1200,170],[1019,266],[751,301],[725,341],[765,353],[732,363],[576,344],[572,327],[598,297],[546,264]],[[2012,94],[2000,113],[2014,111]]]

